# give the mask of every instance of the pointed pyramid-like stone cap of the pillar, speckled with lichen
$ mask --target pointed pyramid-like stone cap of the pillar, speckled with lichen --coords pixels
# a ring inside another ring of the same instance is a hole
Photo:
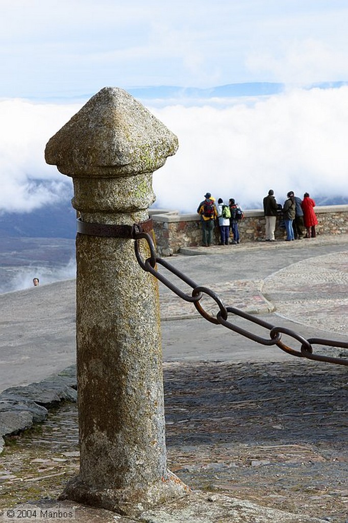
[[[152,173],[176,153],[178,139],[118,87],[94,95],[48,142],[45,160],[72,177]]]

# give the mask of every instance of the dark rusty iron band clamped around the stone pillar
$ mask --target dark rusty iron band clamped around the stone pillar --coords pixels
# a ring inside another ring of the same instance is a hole
[[[107,238],[132,238],[139,233],[147,233],[153,230],[153,220],[148,220],[133,225],[113,225],[107,223],[83,222],[77,219],[77,232],[88,236],[103,236]]]

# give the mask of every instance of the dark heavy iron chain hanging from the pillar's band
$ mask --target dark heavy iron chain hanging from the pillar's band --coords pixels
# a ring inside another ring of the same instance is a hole
[[[149,251],[150,251],[150,257],[147,259],[143,259],[142,255],[140,253],[140,240],[144,239],[147,242]],[[153,238],[150,234],[147,232],[139,232],[135,233],[135,243],[134,243],[134,249],[135,249],[135,256],[138,260],[139,265],[146,271],[150,272],[155,278],[157,278],[159,281],[161,281],[166,287],[168,287],[172,292],[177,294],[179,298],[182,298],[184,301],[193,303],[195,308],[198,310],[198,312],[209,322],[214,323],[216,325],[223,325],[227,328],[229,328],[231,331],[234,331],[238,334],[241,334],[242,336],[245,336],[254,342],[260,343],[262,345],[276,345],[280,349],[284,350],[286,353],[291,354],[292,356],[297,356],[299,358],[307,358],[311,360],[316,361],[326,361],[328,363],[337,363],[338,365],[348,365],[348,359],[345,358],[334,358],[331,356],[322,356],[318,354],[313,353],[312,345],[326,345],[329,347],[339,347],[339,348],[345,348],[348,349],[348,343],[345,342],[338,342],[331,339],[322,339],[322,338],[309,338],[306,339],[300,334],[296,333],[292,329],[286,328],[286,327],[276,327],[268,322],[265,322],[261,320],[260,318],[253,316],[252,314],[249,314],[247,312],[243,312],[240,309],[236,309],[235,307],[226,307],[223,303],[223,301],[218,297],[218,295],[212,291],[211,289],[207,287],[202,287],[197,285],[191,278],[184,275],[180,270],[176,269],[172,265],[170,265],[167,261],[165,261],[163,258],[159,258],[156,255],[156,248],[153,242]],[[177,276],[181,281],[184,283],[187,283],[189,287],[192,288],[192,293],[187,294],[183,292],[181,289],[179,289],[176,285],[174,285],[171,281],[169,281],[163,274],[158,272],[156,266],[161,265],[165,269],[167,269],[171,274]],[[218,313],[216,316],[212,316],[207,311],[204,310],[202,304],[200,303],[203,295],[206,294],[210,298],[212,298],[217,306],[218,306]],[[258,336],[256,334],[253,334],[246,329],[243,329],[241,327],[238,327],[234,323],[228,321],[228,315],[234,314],[235,316],[240,316],[243,319],[255,323],[257,325],[260,325],[261,327],[268,330],[269,338],[263,338],[261,336]],[[285,334],[291,338],[294,338],[297,340],[300,345],[300,350],[288,347],[285,343],[282,342],[281,337],[282,334]]]

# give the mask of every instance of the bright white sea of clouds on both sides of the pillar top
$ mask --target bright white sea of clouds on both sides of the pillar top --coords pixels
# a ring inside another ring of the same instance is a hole
[[[30,212],[72,192],[71,180],[45,164],[44,148],[86,101],[0,100],[0,213]],[[289,190],[348,198],[346,86],[145,105],[179,139],[154,173],[157,207],[195,212],[206,191],[249,209],[270,188],[280,202]]]

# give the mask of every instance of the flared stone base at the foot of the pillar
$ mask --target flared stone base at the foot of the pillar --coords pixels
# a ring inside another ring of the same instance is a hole
[[[168,471],[166,478],[145,487],[97,488],[76,476],[59,496],[83,505],[104,508],[122,516],[137,517],[145,510],[175,501],[190,494],[191,489],[178,476]]]

